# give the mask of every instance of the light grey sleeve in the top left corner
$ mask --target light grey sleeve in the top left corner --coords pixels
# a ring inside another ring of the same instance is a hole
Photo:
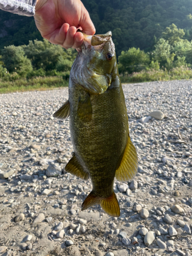
[[[0,0],[0,9],[19,15],[33,16],[36,0]]]

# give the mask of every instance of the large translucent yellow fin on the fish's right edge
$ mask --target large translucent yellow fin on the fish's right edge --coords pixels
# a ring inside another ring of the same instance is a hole
[[[138,157],[135,146],[130,137],[126,143],[124,154],[119,167],[116,170],[115,177],[119,181],[132,180],[137,174]]]

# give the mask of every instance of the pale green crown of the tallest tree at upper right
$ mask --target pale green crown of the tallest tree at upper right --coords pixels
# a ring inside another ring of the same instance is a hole
[[[174,46],[177,42],[182,40],[185,35],[183,29],[178,29],[175,24],[166,27],[165,31],[162,32],[162,37],[168,41],[168,44]]]

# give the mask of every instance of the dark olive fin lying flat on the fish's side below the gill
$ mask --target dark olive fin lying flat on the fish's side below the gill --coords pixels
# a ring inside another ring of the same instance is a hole
[[[92,119],[92,105],[90,96],[87,93],[84,97],[80,96],[77,106],[77,115],[84,122],[90,122]]]

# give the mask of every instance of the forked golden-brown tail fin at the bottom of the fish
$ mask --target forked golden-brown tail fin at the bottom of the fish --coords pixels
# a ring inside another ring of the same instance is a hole
[[[98,197],[94,194],[93,191],[88,195],[86,200],[82,203],[82,209],[86,210],[87,208],[95,205],[100,204],[103,210],[106,212],[106,214],[109,214],[113,217],[119,217],[120,216],[120,208],[119,203],[117,201],[116,195],[113,192],[113,194],[108,198],[102,198]]]

